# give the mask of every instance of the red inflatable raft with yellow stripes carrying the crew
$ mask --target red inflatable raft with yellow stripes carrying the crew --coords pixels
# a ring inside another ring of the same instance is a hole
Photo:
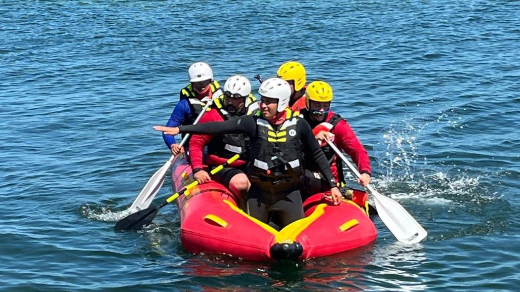
[[[174,192],[193,181],[191,172],[184,155],[178,155],[172,164]],[[304,202],[306,217],[277,231],[244,213],[232,193],[212,181],[177,199],[180,239],[191,253],[227,254],[253,261],[336,254],[375,240],[377,232],[368,216],[366,197],[365,192],[355,190],[353,201],[330,206],[321,201],[321,194],[313,195]]]

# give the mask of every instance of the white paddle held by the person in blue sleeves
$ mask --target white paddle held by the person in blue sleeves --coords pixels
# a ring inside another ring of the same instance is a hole
[[[209,99],[206,101],[206,105],[204,105],[204,108],[202,109],[200,114],[197,116],[195,122],[193,122],[193,125],[195,125],[199,122],[199,120],[202,117],[202,115],[204,114],[204,112],[206,112],[206,109],[209,108],[212,103],[213,103],[212,99]],[[182,147],[184,144],[186,144],[186,141],[188,141],[189,137],[190,137],[190,134],[186,134],[186,136],[184,136],[183,140],[180,141],[179,145]],[[164,178],[166,177],[166,172],[168,171],[168,169],[170,169],[170,166],[172,166],[172,161],[173,161],[174,157],[175,157],[175,155],[172,155],[170,157],[170,159],[168,159],[168,161],[166,161],[166,163],[161,168],[159,168],[157,171],[155,171],[155,173],[152,175],[152,177],[145,184],[145,187],[142,188],[139,195],[137,195],[137,197],[135,198],[134,203],[132,203],[132,205],[125,211],[127,211],[128,213],[136,213],[137,211],[146,209],[146,208],[148,208],[148,206],[150,206],[150,204],[153,201],[153,198],[155,197],[155,195],[157,195],[157,193],[159,192],[159,189],[161,188],[161,186],[164,182]]]

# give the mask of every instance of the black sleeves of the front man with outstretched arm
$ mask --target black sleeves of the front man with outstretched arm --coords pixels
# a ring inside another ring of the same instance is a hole
[[[255,143],[258,140],[256,120],[255,117],[251,115],[245,115],[224,122],[179,126],[179,131],[181,133],[214,135],[243,133],[249,136],[251,143]],[[336,182],[332,176],[327,157],[319,147],[318,141],[316,141],[309,124],[303,120],[303,118],[298,118],[298,121],[296,122],[296,131],[298,132],[300,140],[305,148],[305,156],[307,157],[310,155],[318,165],[323,177],[329,182],[330,187],[336,187]]]

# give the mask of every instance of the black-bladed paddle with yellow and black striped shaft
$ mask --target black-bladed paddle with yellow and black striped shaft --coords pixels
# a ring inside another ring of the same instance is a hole
[[[229,158],[224,164],[219,165],[215,167],[213,170],[210,171],[212,175],[216,174],[218,171],[222,170],[224,167],[228,166],[229,164],[236,161],[240,155],[244,154],[246,150],[242,151],[239,154],[233,155],[233,157]],[[165,202],[163,202],[161,205],[156,207],[150,207],[146,209],[142,209],[140,211],[137,211],[137,213],[130,214],[126,216],[125,218],[118,221],[118,223],[115,224],[115,231],[128,231],[132,229],[138,229],[141,226],[148,225],[152,222],[153,218],[155,218],[155,215],[157,214],[157,211],[159,211],[160,208],[166,206],[167,204],[173,202],[180,194],[194,188],[196,185],[198,185],[199,182],[193,181],[192,183],[188,184],[186,187],[184,187],[182,190],[178,191],[177,193],[173,194],[172,196],[168,197]]]

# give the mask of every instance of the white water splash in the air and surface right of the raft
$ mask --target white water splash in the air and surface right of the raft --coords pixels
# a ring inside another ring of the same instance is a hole
[[[421,200],[427,204],[481,204],[495,200],[496,193],[480,182],[488,174],[473,169],[453,171],[443,164],[443,158],[437,158],[446,155],[448,159],[449,153],[431,152],[431,136],[438,135],[446,124],[449,128],[458,125],[460,116],[451,117],[454,112],[439,112],[432,118],[409,117],[383,129],[383,141],[378,145],[384,148],[376,145],[374,149],[383,175],[374,178],[373,184],[394,199]],[[430,153],[424,154],[422,149]]]

